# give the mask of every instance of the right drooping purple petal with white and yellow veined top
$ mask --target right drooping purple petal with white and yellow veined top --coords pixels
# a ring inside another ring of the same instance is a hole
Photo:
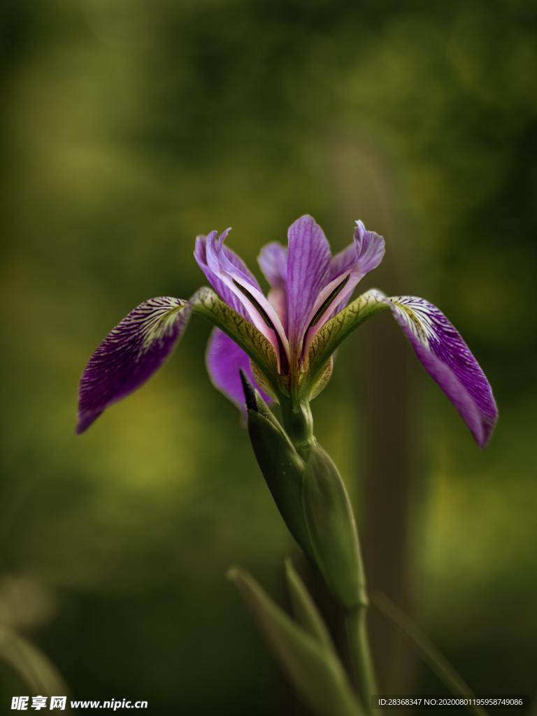
[[[423,366],[440,385],[483,447],[498,418],[490,384],[455,326],[416,296],[386,299]]]

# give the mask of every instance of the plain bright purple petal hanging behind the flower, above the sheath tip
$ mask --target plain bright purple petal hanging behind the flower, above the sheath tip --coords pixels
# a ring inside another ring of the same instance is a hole
[[[242,369],[250,382],[255,385],[266,402],[272,402],[271,397],[256,383],[253,377],[250,359],[238,345],[218,328],[211,333],[207,346],[207,370],[213,385],[223,392],[226,397],[238,407],[244,405],[244,390],[239,371]]]

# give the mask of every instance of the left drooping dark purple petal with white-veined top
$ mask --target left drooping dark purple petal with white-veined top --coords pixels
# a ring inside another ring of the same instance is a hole
[[[188,301],[160,296],[144,301],[112,329],[80,379],[78,433],[160,368],[177,345],[190,310]]]

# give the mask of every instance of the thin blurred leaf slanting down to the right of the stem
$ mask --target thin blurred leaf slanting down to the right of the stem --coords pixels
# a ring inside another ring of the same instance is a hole
[[[452,694],[456,696],[473,696],[468,684],[448,662],[448,659],[391,599],[388,599],[385,594],[375,594],[372,601],[384,616],[401,629],[405,637],[412,642],[423,661],[437,675],[442,684],[448,687]],[[471,713],[478,714],[478,716],[487,716],[487,712],[478,706],[469,704],[467,708]]]

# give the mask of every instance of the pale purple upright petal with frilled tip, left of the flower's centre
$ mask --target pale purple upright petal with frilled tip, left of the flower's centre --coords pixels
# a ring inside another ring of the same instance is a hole
[[[286,354],[287,350],[284,326],[246,264],[224,245],[228,232],[229,229],[218,240],[216,231],[211,231],[205,240],[198,237],[196,261],[226,303],[234,309],[241,305],[241,315],[271,342],[281,361],[281,351]]]

